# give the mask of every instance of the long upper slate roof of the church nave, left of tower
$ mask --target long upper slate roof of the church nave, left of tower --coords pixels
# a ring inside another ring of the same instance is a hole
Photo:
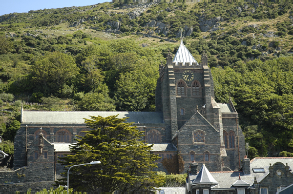
[[[99,112],[99,111],[21,111],[21,123],[84,123],[90,116],[129,117],[127,122],[140,124],[163,124],[161,112]]]

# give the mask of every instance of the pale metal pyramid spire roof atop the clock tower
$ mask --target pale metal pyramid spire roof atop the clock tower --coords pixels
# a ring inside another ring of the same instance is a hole
[[[178,64],[178,62],[183,62],[183,64],[185,64],[186,62],[189,62],[190,64],[191,63],[198,64],[198,62],[195,60],[195,58],[193,58],[191,53],[188,51],[186,46],[183,44],[182,39],[181,39],[181,43],[178,48],[178,51],[177,51],[175,57],[173,58],[173,62],[176,62],[177,64]]]

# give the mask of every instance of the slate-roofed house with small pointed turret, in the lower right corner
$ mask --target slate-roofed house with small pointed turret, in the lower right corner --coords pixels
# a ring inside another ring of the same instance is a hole
[[[286,190],[292,190],[290,166],[293,165],[293,157],[257,157],[251,161],[244,158],[242,165],[241,171],[231,172],[209,172],[203,165],[197,173],[197,164],[192,163],[188,172],[187,193],[284,194]]]

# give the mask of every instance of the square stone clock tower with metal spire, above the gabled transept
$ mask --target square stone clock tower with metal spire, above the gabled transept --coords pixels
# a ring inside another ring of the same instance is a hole
[[[181,40],[175,57],[169,53],[167,64],[160,66],[156,111],[163,112],[173,136],[196,113],[197,107],[213,123],[213,113],[210,112],[213,98],[213,80],[205,52],[202,62],[198,63]]]

